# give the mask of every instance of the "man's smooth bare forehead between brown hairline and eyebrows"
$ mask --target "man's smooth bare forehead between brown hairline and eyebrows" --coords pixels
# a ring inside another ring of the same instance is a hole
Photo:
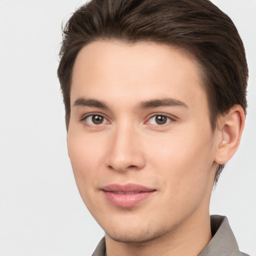
[[[186,100],[188,106],[201,100],[201,96],[205,99],[200,69],[184,49],[154,42],[95,41],[77,54],[71,105],[79,97],[131,104],[165,97],[166,93]]]

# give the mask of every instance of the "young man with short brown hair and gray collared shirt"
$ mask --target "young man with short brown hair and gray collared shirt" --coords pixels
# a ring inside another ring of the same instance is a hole
[[[246,110],[230,18],[208,0],[92,0],[60,57],[69,158],[105,231],[93,255],[246,255],[209,216]]]

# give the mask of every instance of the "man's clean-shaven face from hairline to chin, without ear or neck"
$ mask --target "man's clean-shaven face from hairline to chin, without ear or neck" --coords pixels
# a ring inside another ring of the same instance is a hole
[[[146,241],[208,213],[216,164],[206,95],[191,55],[97,41],[73,67],[68,154],[106,234]]]

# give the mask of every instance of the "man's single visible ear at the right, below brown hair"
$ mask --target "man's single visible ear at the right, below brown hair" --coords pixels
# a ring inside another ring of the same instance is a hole
[[[216,128],[216,150],[214,161],[226,163],[236,152],[245,122],[245,114],[240,105],[232,106],[228,113],[218,118]]]

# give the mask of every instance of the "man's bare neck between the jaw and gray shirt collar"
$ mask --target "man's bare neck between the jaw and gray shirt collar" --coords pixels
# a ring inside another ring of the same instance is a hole
[[[182,224],[175,226],[153,240],[143,243],[125,243],[106,239],[107,256],[196,256],[211,239],[209,212],[194,212]]]

